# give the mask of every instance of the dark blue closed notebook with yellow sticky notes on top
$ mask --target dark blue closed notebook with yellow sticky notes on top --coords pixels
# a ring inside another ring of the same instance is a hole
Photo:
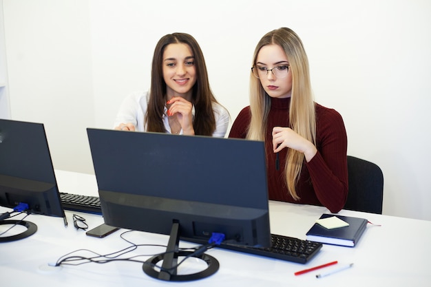
[[[315,223],[306,233],[307,240],[354,247],[361,235],[364,233],[368,220],[359,217],[341,216],[333,214],[322,214],[320,219],[336,216],[348,223],[348,226],[328,229]]]

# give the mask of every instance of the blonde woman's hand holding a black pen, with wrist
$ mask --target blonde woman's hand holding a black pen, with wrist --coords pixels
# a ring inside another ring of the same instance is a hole
[[[312,142],[299,136],[293,129],[288,127],[274,127],[273,128],[273,149],[277,153],[289,147],[301,153],[304,153],[305,159],[309,162],[317,153],[316,147]]]

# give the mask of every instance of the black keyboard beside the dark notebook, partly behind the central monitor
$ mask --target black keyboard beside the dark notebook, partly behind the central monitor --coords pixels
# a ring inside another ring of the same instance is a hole
[[[242,253],[251,253],[264,257],[281,259],[289,262],[305,264],[313,258],[322,248],[322,243],[283,235],[271,234],[271,247],[249,247],[234,244],[220,244],[220,248],[226,248]]]

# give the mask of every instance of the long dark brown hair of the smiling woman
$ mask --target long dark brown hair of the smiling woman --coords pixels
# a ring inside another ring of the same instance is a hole
[[[209,87],[207,65],[198,42],[186,33],[173,33],[162,36],[154,50],[151,66],[151,87],[145,120],[147,131],[166,132],[162,122],[166,103],[166,83],[163,80],[163,52],[169,44],[184,43],[189,45],[195,59],[196,83],[192,87],[191,102],[195,106],[193,129],[196,135],[211,136],[215,131],[215,116],[212,103],[217,103]]]

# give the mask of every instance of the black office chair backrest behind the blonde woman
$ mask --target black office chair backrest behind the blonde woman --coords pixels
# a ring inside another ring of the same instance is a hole
[[[348,196],[344,209],[381,214],[383,172],[377,164],[347,156]]]

